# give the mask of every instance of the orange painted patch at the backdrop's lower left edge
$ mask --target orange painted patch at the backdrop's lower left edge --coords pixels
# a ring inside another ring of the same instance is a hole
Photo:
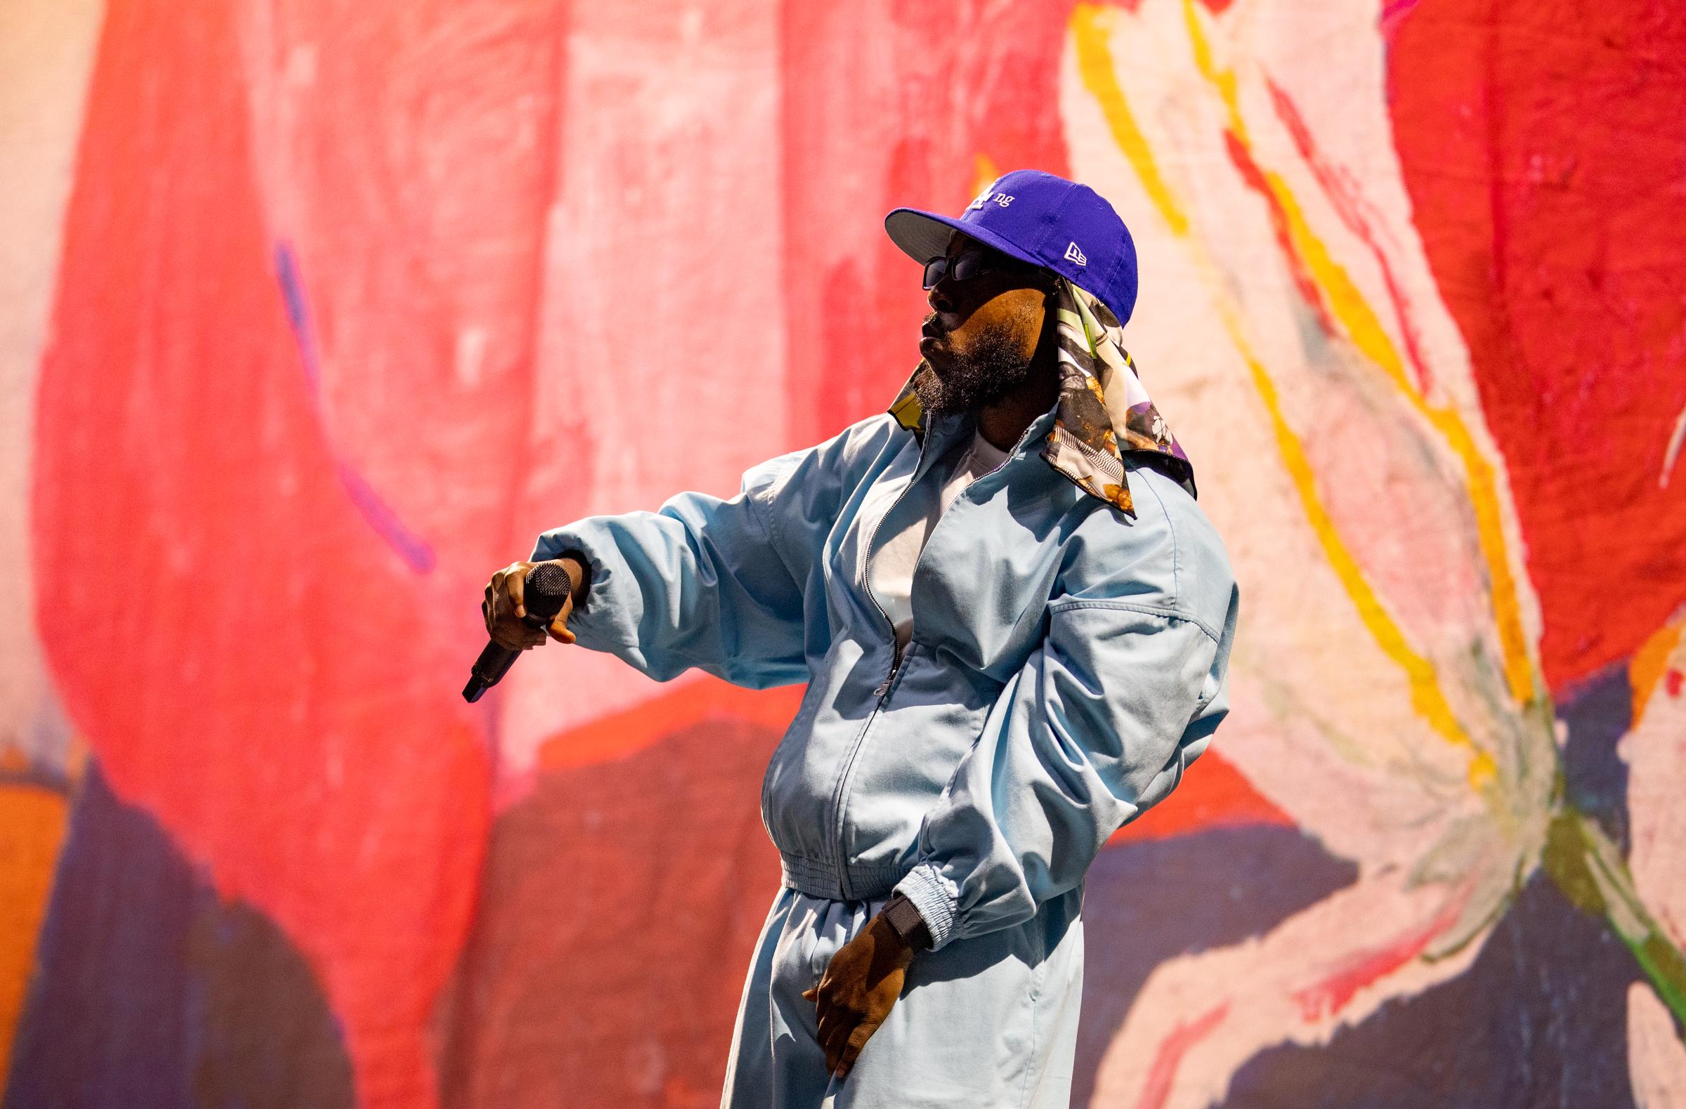
[[[0,1077],[5,1075],[64,841],[64,797],[39,785],[0,785]]]

